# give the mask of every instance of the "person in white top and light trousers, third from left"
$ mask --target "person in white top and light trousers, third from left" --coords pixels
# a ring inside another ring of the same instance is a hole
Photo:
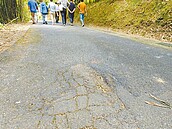
[[[48,8],[50,10],[50,17],[51,17],[51,22],[52,25],[55,23],[55,11],[56,11],[56,5],[53,2],[53,0],[50,0],[50,3],[48,4]]]

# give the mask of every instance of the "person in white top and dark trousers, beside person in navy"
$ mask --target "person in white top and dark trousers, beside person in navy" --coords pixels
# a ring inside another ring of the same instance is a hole
[[[60,11],[61,12],[61,16],[62,16],[62,23],[63,25],[65,26],[66,25],[66,9],[67,9],[67,6],[69,4],[68,0],[59,0],[60,2],[60,6],[62,6],[62,10]]]

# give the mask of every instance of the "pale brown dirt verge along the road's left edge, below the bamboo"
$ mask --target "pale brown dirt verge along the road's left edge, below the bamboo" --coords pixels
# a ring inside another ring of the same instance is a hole
[[[28,24],[10,24],[0,29],[0,53],[18,41],[29,29]]]

